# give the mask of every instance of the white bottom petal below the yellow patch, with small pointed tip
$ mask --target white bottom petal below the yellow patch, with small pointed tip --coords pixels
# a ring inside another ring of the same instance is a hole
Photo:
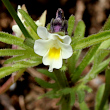
[[[59,59],[50,59],[48,57],[49,51],[43,57],[43,64],[49,65],[49,71],[52,72],[54,68],[60,69],[62,67],[62,57],[60,55]]]

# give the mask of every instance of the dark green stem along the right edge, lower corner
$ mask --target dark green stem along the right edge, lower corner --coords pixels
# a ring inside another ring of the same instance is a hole
[[[107,67],[106,73],[105,73],[106,81],[105,81],[105,90],[103,97],[101,99],[101,103],[98,110],[103,110],[104,105],[108,99],[108,96],[110,94],[110,66]]]

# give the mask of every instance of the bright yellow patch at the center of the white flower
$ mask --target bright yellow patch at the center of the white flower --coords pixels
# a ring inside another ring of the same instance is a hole
[[[61,48],[59,48],[59,49],[56,49],[55,47],[50,48],[50,50],[49,50],[49,58],[50,59],[56,59],[56,60],[59,59],[60,50],[61,50]]]

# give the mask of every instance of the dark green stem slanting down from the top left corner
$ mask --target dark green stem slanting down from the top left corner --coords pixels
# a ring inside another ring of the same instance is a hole
[[[19,28],[21,29],[22,33],[24,34],[25,37],[29,37],[31,38],[30,34],[28,33],[28,31],[26,30],[26,28],[24,27],[24,25],[22,24],[22,22],[20,21],[19,17],[17,16],[16,11],[14,10],[13,6],[11,5],[11,3],[9,2],[9,0],[2,0],[2,2],[4,3],[4,5],[6,6],[6,8],[8,9],[9,13],[11,14],[11,16],[13,17],[13,19],[16,21],[16,23],[18,24]]]

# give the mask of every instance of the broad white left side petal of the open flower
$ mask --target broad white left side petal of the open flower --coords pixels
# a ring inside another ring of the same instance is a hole
[[[51,40],[38,39],[34,43],[34,52],[40,56],[44,56],[52,45]]]

